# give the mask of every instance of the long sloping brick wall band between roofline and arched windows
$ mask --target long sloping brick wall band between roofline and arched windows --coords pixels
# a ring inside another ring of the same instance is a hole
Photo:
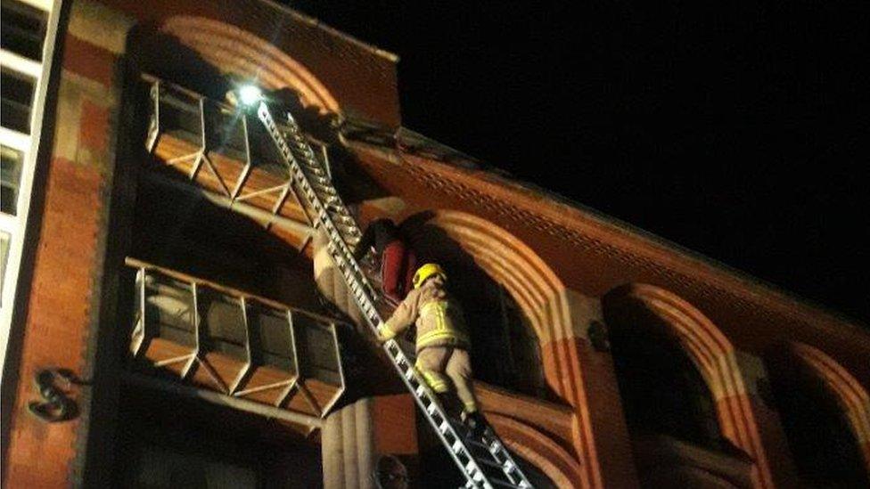
[[[496,175],[398,151],[386,158],[361,144],[354,149],[376,181],[406,200],[406,215],[451,208],[487,218],[529,243],[570,288],[600,297],[627,282],[659,285],[701,307],[741,347],[763,351],[803,338],[870,378],[863,361],[870,336],[855,324]]]

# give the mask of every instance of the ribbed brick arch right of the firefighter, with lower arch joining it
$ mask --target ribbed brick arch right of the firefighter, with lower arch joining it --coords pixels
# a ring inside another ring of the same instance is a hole
[[[414,248],[425,248],[421,241],[430,232],[425,226],[438,228],[458,244],[475,265],[505,287],[529,319],[541,348],[546,384],[576,413],[577,428],[571,436],[577,455],[567,454],[550,436],[520,421],[493,412],[487,412],[488,419],[505,436],[505,443],[559,486],[601,486],[600,462],[580,371],[581,354],[574,341],[570,291],[534,250],[486,219],[454,210],[410,216],[403,229]],[[582,463],[577,463],[578,458]]]

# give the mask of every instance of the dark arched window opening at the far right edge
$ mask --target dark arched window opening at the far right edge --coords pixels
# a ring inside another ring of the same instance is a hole
[[[847,413],[815,362],[807,360],[815,359],[802,358],[800,351],[768,358],[774,403],[798,475],[812,487],[870,487]]]

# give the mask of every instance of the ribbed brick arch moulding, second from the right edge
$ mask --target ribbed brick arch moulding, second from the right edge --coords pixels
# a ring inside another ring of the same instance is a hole
[[[666,289],[630,283],[608,292],[603,307],[619,307],[625,301],[643,305],[668,324],[710,388],[722,436],[751,457],[756,486],[774,486],[735,347],[728,338],[695,306]]]

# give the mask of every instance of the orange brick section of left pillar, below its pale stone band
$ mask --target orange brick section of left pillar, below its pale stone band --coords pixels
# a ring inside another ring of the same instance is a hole
[[[84,367],[82,351],[93,286],[92,268],[87,265],[95,257],[101,207],[97,196],[102,184],[101,175],[92,167],[66,159],[52,162],[12,413],[8,471],[4,473],[9,487],[67,485],[80,421],[46,424],[29,415],[27,404],[40,400],[32,387],[38,369],[60,366],[81,372]]]

